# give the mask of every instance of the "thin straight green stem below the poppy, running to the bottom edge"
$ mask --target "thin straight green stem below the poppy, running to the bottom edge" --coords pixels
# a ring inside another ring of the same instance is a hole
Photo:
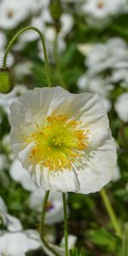
[[[68,256],[68,229],[67,229],[67,197],[62,193],[63,212],[64,212],[64,229],[65,229],[65,256]]]

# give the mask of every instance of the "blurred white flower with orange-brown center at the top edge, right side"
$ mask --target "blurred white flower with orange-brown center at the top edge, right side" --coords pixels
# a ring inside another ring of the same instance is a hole
[[[90,26],[106,26],[111,18],[123,12],[122,0],[86,0],[82,12],[87,15]]]

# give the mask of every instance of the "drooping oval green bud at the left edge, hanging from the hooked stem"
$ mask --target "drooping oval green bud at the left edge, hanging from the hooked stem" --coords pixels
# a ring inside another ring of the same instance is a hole
[[[8,67],[0,68],[0,92],[9,93],[14,88],[14,76]]]

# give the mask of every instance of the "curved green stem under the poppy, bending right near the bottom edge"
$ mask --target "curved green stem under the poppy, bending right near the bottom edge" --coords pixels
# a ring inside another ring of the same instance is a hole
[[[45,212],[46,212],[46,207],[49,199],[49,190],[46,191],[45,196],[44,196],[44,203],[43,203],[43,208],[42,208],[42,213],[41,213],[41,227],[40,227],[40,236],[41,240],[44,243],[44,246],[55,256],[61,256],[59,253],[56,253],[55,249],[49,245],[49,242],[45,238],[45,231],[44,231],[44,218],[45,218]]]

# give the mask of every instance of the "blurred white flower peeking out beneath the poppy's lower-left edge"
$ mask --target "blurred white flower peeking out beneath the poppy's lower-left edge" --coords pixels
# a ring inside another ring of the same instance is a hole
[[[21,166],[19,160],[14,160],[9,170],[10,176],[18,183],[21,184],[23,189],[27,191],[32,191],[37,189],[35,183],[33,183],[31,176],[26,172],[26,170]]]

